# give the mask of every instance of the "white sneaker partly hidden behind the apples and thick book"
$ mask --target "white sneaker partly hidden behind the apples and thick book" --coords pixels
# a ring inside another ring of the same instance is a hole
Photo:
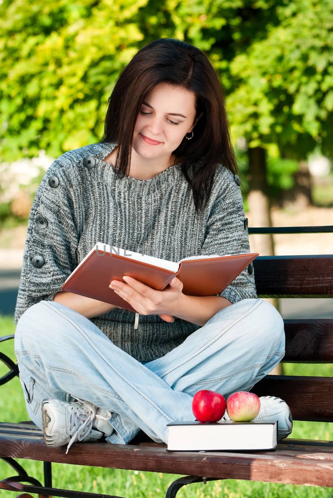
[[[278,439],[289,436],[293,430],[293,417],[286,401],[276,396],[260,396],[260,410],[253,420],[263,420],[264,422],[278,421]],[[225,410],[222,420],[230,420]]]

